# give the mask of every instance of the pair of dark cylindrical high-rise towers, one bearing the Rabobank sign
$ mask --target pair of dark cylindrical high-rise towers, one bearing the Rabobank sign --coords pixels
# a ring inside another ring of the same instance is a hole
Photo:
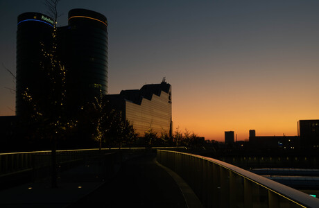
[[[48,60],[44,51],[53,42],[53,19],[26,12],[17,26],[17,94],[16,113],[26,111],[23,93],[28,90],[37,103],[48,96]],[[67,103],[77,110],[94,96],[107,93],[107,19],[85,9],[69,11],[68,26],[57,28],[57,55],[67,69]]]

